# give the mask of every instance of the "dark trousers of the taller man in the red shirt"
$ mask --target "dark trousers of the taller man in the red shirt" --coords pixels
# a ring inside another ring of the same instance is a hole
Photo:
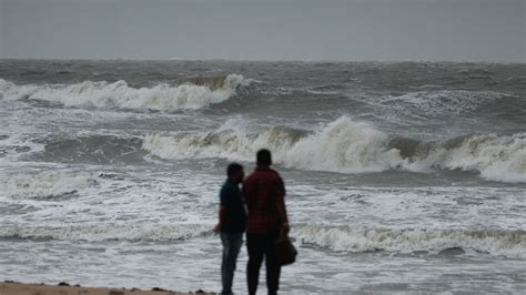
[[[277,232],[264,234],[246,233],[249,265],[246,266],[249,294],[255,294],[260,281],[260,268],[263,258],[266,262],[266,288],[269,294],[277,294],[281,266],[276,263],[274,243]]]

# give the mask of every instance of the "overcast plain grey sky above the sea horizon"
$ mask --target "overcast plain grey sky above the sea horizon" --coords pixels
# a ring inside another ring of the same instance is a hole
[[[526,0],[0,0],[0,58],[526,62]]]

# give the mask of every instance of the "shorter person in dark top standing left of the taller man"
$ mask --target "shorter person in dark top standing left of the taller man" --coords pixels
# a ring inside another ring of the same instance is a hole
[[[240,183],[243,182],[243,166],[232,163],[226,169],[227,179],[220,192],[219,223],[214,231],[220,232],[223,245],[221,263],[221,294],[232,294],[235,264],[243,244],[246,228],[246,211],[241,196]]]

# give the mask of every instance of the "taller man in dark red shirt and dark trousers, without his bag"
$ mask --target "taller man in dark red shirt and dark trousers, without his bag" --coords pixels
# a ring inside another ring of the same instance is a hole
[[[266,288],[276,294],[281,266],[276,263],[274,244],[289,232],[285,208],[285,185],[280,174],[272,170],[269,150],[256,154],[257,167],[243,182],[243,196],[249,208],[246,247],[249,251],[249,293],[255,294],[263,258],[266,261]]]

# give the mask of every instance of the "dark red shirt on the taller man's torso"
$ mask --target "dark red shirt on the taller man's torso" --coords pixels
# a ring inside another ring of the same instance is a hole
[[[280,174],[270,167],[257,167],[243,182],[243,196],[249,208],[246,232],[277,231],[282,224],[276,202],[285,196],[285,185]]]

